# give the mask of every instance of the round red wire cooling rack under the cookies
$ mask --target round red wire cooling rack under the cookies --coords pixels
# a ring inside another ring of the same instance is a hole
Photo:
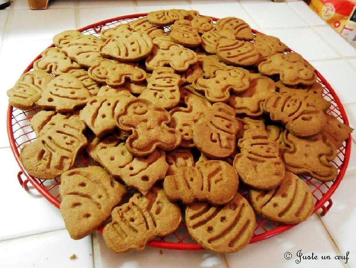
[[[113,19],[100,21],[92,25],[86,26],[84,28],[79,29],[79,31],[83,32],[84,34],[95,35],[99,37],[99,33],[101,30],[113,28],[116,25],[119,25],[120,23],[128,23],[136,19],[145,17],[146,15],[147,14],[135,14],[116,17]],[[217,19],[213,18],[213,20],[216,21]],[[165,27],[164,30],[166,32],[169,32],[169,27]],[[256,33],[257,31],[253,32]],[[40,57],[41,55],[39,55],[36,59]],[[34,59],[33,62],[36,59]],[[28,65],[24,72],[28,72],[32,69],[33,62]],[[342,106],[335,91],[333,90],[333,88],[331,88],[329,83],[326,82],[324,77],[321,76],[318,71],[315,70],[315,73],[318,76],[318,82],[324,88],[324,98],[326,100],[329,100],[331,103],[328,113],[334,115],[340,122],[349,125],[349,121],[347,120],[344,107]],[[33,178],[23,169],[19,160],[20,149],[22,148],[22,146],[36,139],[35,132],[33,132],[30,126],[30,120],[32,116],[36,114],[36,112],[39,110],[40,109],[22,111],[9,105],[9,109],[7,111],[7,133],[9,136],[12,152],[14,153],[16,161],[21,169],[21,171],[17,175],[17,179],[19,180],[20,184],[25,190],[27,190],[27,183],[30,182],[39,193],[41,193],[46,199],[48,199],[48,201],[50,201],[53,205],[59,208],[59,179],[57,178],[53,180],[41,180]],[[325,213],[328,212],[328,210],[332,206],[333,203],[330,197],[336,190],[337,186],[340,184],[342,178],[344,177],[344,173],[349,162],[350,149],[351,138],[349,137],[343,143],[342,147],[337,149],[337,156],[334,159],[333,163],[337,167],[339,174],[333,182],[319,182],[318,180],[315,180],[313,178],[302,176],[302,178],[307,182],[310,189],[312,190],[313,196],[315,198],[316,203],[314,212],[319,209],[322,209],[321,215],[325,215]],[[93,160],[87,155],[87,153],[83,152],[77,157],[74,167],[86,167],[93,163]],[[281,225],[269,221],[259,215],[256,215],[256,228],[251,243],[277,235],[278,233],[284,232],[289,228],[292,228],[293,226],[295,225]],[[179,228],[173,234],[166,237],[158,237],[156,238],[156,240],[148,242],[148,245],[152,247],[167,249],[201,249],[201,247],[189,237],[184,222],[180,224]]]

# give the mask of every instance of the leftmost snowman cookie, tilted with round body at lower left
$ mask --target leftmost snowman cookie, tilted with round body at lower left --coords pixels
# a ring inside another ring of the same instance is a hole
[[[23,168],[39,179],[54,179],[72,168],[78,151],[87,145],[84,129],[85,124],[78,116],[62,120],[36,141],[22,147]]]

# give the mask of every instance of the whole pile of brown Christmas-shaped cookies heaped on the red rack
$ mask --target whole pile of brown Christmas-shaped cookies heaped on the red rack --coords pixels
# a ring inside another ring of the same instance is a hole
[[[282,224],[312,214],[297,175],[337,176],[331,161],[352,128],[326,114],[311,65],[241,19],[160,10],[53,43],[7,95],[43,109],[20,160],[36,178],[61,176],[73,239],[106,223],[112,250],[143,249],[184,211],[199,245],[234,252],[250,242],[255,213]],[[73,168],[84,148],[98,166]]]

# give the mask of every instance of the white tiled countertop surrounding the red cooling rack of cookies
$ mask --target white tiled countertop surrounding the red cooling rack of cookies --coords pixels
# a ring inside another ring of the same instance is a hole
[[[238,16],[253,28],[276,35],[325,76],[344,103],[350,125],[356,128],[356,51],[302,1],[275,4],[270,0],[50,0],[48,10],[29,10],[27,0],[14,0],[0,10],[1,90],[10,88],[23,69],[64,29],[138,12],[169,8],[196,9],[215,17]],[[61,18],[62,20],[59,20]],[[59,22],[60,21],[60,22]],[[100,234],[93,241],[69,238],[59,211],[35,190],[25,192],[16,180],[19,170],[10,156],[6,135],[7,99],[0,99],[0,267],[342,267],[343,262],[313,260],[295,264],[298,249],[335,256],[350,251],[347,267],[355,267],[356,143],[352,143],[349,168],[333,195],[326,216],[308,221],[234,254],[184,252],[148,248],[143,252],[114,254]],[[355,141],[355,134],[352,135]],[[4,148],[7,147],[7,148]],[[6,160],[4,160],[6,159]],[[346,197],[346,198],[345,198]],[[321,219],[321,220],[320,220]],[[61,229],[61,230],[58,230]],[[92,247],[94,251],[92,251]],[[20,251],[19,251],[20,249]],[[286,260],[289,251],[293,258]],[[70,260],[76,254],[78,259]],[[25,256],[25,257],[24,257]],[[94,258],[94,262],[93,262]]]

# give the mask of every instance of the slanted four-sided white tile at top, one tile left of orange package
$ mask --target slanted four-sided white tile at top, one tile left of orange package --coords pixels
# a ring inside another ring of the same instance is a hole
[[[261,28],[307,26],[286,3],[274,3],[271,1],[256,3],[246,1],[241,4]]]

